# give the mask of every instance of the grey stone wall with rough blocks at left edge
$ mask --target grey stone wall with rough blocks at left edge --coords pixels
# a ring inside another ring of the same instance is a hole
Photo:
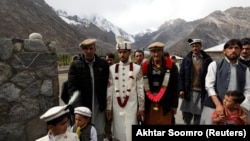
[[[59,105],[55,44],[0,38],[0,141],[34,141],[47,134],[39,117]]]

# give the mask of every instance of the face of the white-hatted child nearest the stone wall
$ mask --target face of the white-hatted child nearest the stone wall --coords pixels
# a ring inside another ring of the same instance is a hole
[[[67,128],[68,128],[68,117],[65,117],[62,121],[60,121],[56,125],[49,125],[49,129],[51,130],[54,136],[65,133],[67,131]]]

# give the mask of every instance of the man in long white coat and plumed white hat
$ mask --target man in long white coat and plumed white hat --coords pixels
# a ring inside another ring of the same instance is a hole
[[[113,135],[119,141],[132,140],[132,125],[144,119],[144,91],[141,67],[130,60],[131,43],[116,37],[119,63],[110,66],[107,119],[113,121]]]

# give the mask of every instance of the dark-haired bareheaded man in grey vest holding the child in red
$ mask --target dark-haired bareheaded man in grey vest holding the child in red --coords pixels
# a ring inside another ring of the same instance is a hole
[[[206,90],[204,107],[200,124],[211,125],[213,110],[220,116],[225,116],[222,99],[227,91],[242,91],[246,99],[241,103],[245,112],[250,109],[250,73],[246,65],[238,61],[242,50],[239,39],[230,39],[224,45],[225,58],[213,61],[208,66],[206,75]]]

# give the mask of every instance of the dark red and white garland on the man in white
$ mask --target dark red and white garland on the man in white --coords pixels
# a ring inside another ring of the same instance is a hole
[[[119,71],[119,64],[116,64],[116,66],[115,66],[115,93],[116,93],[116,98],[117,98],[119,106],[120,107],[125,107],[127,102],[128,102],[128,98],[129,98],[131,88],[132,88],[132,82],[133,82],[133,79],[134,79],[134,77],[133,77],[133,63],[132,62],[129,63],[129,83],[128,83],[128,86],[127,86],[126,96],[125,96],[125,99],[124,99],[123,102],[122,102],[121,97],[120,97],[118,71]]]

